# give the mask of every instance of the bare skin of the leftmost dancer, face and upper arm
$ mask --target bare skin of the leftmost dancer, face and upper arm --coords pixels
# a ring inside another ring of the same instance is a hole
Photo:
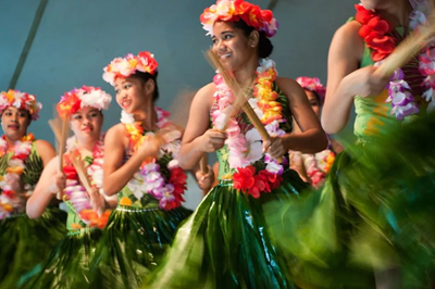
[[[27,128],[32,123],[30,114],[26,110],[7,108],[1,114],[1,126],[4,131],[8,147],[13,148],[15,141],[27,135]],[[54,148],[46,140],[35,141],[36,150],[42,160],[44,167],[55,156]],[[21,187],[23,189],[23,185]],[[24,200],[23,200],[24,201]]]

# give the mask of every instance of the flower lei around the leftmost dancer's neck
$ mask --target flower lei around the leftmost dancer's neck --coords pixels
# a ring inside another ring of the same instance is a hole
[[[23,205],[23,196],[20,187],[21,175],[26,168],[24,163],[32,153],[34,139],[35,137],[30,133],[15,141],[12,148],[13,155],[8,163],[7,174],[0,176],[0,188],[2,190],[0,194],[0,219],[10,216],[15,209],[21,209]],[[8,142],[3,136],[0,138],[0,158],[5,158],[9,150]],[[24,190],[26,191],[24,196],[28,197],[33,192],[33,186],[25,184]]]

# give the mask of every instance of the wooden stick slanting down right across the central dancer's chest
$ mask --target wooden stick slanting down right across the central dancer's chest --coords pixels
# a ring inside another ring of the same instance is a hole
[[[268,130],[265,130],[264,125],[261,123],[261,121],[258,117],[258,115],[256,114],[256,112],[252,110],[252,106],[249,104],[248,98],[247,98],[247,91],[241,89],[240,86],[238,85],[238,83],[236,81],[236,79],[228,74],[228,72],[223,67],[223,65],[219,61],[217,55],[213,51],[211,51],[211,50],[207,51],[207,55],[210,59],[210,63],[212,63],[212,65],[216,70],[219,70],[219,72],[221,73],[222,77],[225,80],[225,84],[233,91],[233,95],[235,96],[236,100],[241,99],[240,100],[241,109],[244,110],[246,115],[249,117],[249,121],[252,123],[252,125],[256,127],[256,129],[259,131],[263,141],[269,141],[271,139],[271,137],[269,136]],[[244,86],[244,87],[246,87],[246,86]],[[278,163],[282,163],[283,156],[277,158],[276,161]]]

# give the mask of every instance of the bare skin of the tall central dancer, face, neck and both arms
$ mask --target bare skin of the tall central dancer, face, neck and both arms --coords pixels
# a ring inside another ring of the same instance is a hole
[[[213,51],[220,56],[224,67],[234,74],[237,81],[244,84],[254,79],[259,63],[259,33],[254,30],[246,37],[243,30],[234,28],[231,23],[216,22],[213,35]],[[276,83],[287,96],[290,113],[301,133],[272,137],[271,141],[263,142],[263,150],[275,159],[288,150],[307,153],[324,150],[327,146],[326,136],[310,108],[303,89],[289,78],[278,77]],[[224,146],[226,134],[209,129],[210,110],[215,91],[215,85],[209,84],[197,92],[192,101],[179,158],[182,167],[186,169],[194,167],[204,152],[214,152]]]

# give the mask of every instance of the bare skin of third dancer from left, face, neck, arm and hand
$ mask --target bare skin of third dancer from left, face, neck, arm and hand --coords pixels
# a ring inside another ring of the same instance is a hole
[[[145,130],[156,130],[157,114],[153,109],[152,100],[156,84],[152,79],[146,83],[135,77],[116,78],[115,92],[116,102],[127,113],[134,114],[135,121],[141,122]],[[166,128],[166,133],[177,129],[174,126]],[[165,130],[161,130],[165,134]],[[122,136],[122,137],[121,137]],[[104,193],[107,196],[116,194],[128,183],[134,174],[139,169],[144,160],[154,158],[160,147],[163,144],[162,138],[151,138],[140,146],[140,148],[124,163],[124,153],[128,148],[128,138],[124,134],[123,124],[117,124],[109,129],[105,136],[105,150],[110,151],[104,155]],[[198,164],[198,163],[197,163]],[[196,176],[201,189],[210,189],[213,180],[212,173],[198,173],[196,165]],[[212,172],[209,169],[209,172]]]

